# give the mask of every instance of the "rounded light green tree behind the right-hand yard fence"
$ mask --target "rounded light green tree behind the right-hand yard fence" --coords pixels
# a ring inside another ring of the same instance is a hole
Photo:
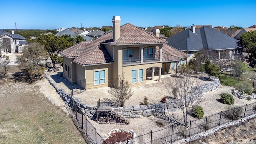
[[[234,60],[234,63],[231,65],[231,73],[235,77],[240,77],[243,72],[246,72],[248,69],[247,65],[241,60]]]

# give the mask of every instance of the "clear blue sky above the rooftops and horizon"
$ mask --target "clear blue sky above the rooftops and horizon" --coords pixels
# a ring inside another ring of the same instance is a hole
[[[56,29],[121,25],[242,26],[256,24],[255,0],[1,0],[0,29]]]

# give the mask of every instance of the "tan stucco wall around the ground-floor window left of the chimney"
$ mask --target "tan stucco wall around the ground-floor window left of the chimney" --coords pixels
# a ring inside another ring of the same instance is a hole
[[[110,86],[110,84],[112,82],[112,68],[113,68],[113,64],[86,66],[85,67],[86,89]],[[104,84],[94,84],[94,72],[100,71],[100,70],[105,70],[105,83]]]

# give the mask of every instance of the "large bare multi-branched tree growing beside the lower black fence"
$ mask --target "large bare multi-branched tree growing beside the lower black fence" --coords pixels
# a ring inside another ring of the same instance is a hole
[[[163,82],[170,96],[173,96],[175,104],[182,110],[184,126],[188,126],[188,112],[202,102],[202,97],[198,96],[199,80],[189,73],[179,73],[175,80],[169,77]]]

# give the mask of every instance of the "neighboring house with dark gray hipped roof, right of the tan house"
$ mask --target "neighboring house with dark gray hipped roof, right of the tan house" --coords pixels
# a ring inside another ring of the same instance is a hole
[[[238,40],[209,26],[196,28],[193,25],[191,28],[167,38],[166,41],[168,45],[188,54],[188,60],[202,49],[216,51],[219,58],[222,58],[221,56],[223,55],[229,55],[230,58],[234,58],[242,54],[242,48],[237,43]]]

